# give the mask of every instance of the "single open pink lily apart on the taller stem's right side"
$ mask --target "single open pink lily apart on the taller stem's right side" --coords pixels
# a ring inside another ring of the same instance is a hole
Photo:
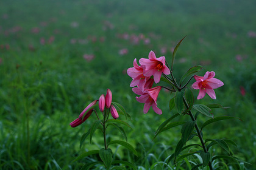
[[[224,83],[213,77],[215,77],[215,72],[206,72],[204,77],[197,75],[194,76],[196,82],[192,84],[192,87],[194,89],[199,89],[197,100],[203,98],[205,93],[207,93],[212,99],[216,99],[215,91],[213,89],[223,86]]]

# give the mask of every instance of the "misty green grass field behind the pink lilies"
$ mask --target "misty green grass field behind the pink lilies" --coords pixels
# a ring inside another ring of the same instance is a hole
[[[157,127],[174,113],[168,111],[169,94],[162,90],[158,98],[163,115],[152,109],[143,114],[126,70],[134,58],[146,58],[150,50],[170,63],[172,48],[185,35],[174,75],[179,78],[197,64],[214,70],[224,86],[216,90],[215,101],[205,97],[197,102],[230,106],[215,110],[215,116],[243,120],[209,125],[204,138],[235,141],[234,154],[252,164],[245,164],[247,169],[256,169],[255,5],[252,0],[0,2],[1,169],[79,169],[97,159],[71,163],[82,152],[102,147],[96,132],[93,143],[87,141],[79,149],[80,137],[96,116],[75,129],[68,124],[107,88],[132,115],[133,131],[126,131],[139,155],[118,147],[113,148],[115,156],[132,161],[138,169],[164,161],[180,138],[176,128],[152,141]],[[121,49],[128,52],[121,55]],[[84,54],[94,55],[93,60],[85,60]],[[116,129],[111,131],[116,134]],[[112,138],[118,137],[110,135],[108,140]],[[218,148],[215,152],[224,154]],[[200,160],[189,157],[180,169],[190,168],[189,161]]]

